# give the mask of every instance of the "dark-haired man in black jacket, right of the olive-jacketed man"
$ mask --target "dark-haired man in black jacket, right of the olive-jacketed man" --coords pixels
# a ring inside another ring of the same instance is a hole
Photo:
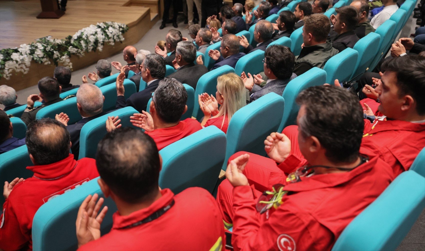
[[[358,20],[357,9],[353,6],[343,6],[336,8],[337,15],[331,15],[331,22],[334,25],[334,31],[338,34],[332,39],[332,47],[339,52],[346,48],[353,48],[359,41],[354,28]]]

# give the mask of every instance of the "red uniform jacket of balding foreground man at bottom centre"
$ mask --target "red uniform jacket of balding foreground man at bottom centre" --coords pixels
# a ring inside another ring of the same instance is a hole
[[[162,197],[150,207],[121,216],[113,215],[108,234],[79,250],[224,250],[224,227],[218,204],[207,190],[192,187],[174,195],[161,190]],[[128,227],[157,210],[174,205],[158,218]]]

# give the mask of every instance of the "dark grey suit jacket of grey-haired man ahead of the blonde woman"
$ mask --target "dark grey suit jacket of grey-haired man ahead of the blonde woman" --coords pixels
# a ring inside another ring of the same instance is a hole
[[[176,78],[181,84],[188,84],[196,89],[199,78],[207,72],[208,69],[204,65],[191,63],[179,67],[175,73],[168,77]]]

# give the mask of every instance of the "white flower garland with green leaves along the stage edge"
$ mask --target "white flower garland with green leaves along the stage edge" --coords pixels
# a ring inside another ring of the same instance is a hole
[[[0,50],[0,78],[10,79],[12,73],[27,74],[31,61],[39,64],[61,63],[72,70],[71,55],[84,56],[85,52],[102,51],[107,42],[114,45],[124,41],[122,36],[128,26],[117,22],[101,22],[83,28],[74,36],[53,39],[51,36],[37,39],[37,42],[20,47]]]

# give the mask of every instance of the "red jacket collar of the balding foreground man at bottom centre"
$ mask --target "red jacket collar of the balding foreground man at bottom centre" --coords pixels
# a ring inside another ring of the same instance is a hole
[[[130,215],[121,216],[119,212],[113,214],[113,229],[120,229],[147,218],[149,215],[158,211],[162,207],[170,204],[174,197],[174,193],[170,189],[161,190],[161,198],[153,202],[149,207],[133,212]]]

